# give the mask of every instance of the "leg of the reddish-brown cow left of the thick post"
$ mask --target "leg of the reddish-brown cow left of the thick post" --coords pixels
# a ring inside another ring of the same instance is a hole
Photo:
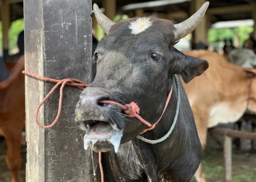
[[[7,155],[6,164],[11,172],[11,182],[19,181],[19,170],[21,166],[21,155],[20,155],[20,140],[21,131],[15,131],[14,128],[11,131],[5,133],[7,143]]]

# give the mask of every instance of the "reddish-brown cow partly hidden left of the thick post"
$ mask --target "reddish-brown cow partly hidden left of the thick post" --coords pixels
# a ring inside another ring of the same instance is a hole
[[[6,68],[13,68],[6,63]],[[11,171],[11,182],[19,181],[21,165],[20,140],[25,129],[25,76],[20,73],[6,89],[0,90],[0,136],[7,143],[6,163]]]

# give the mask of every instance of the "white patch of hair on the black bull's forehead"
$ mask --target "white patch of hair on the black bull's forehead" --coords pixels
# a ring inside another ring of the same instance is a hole
[[[152,22],[147,17],[138,18],[136,21],[131,22],[129,29],[132,30],[132,34],[138,34],[146,30],[152,25]]]

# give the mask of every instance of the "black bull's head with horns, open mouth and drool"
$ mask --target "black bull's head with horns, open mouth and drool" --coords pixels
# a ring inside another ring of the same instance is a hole
[[[137,119],[125,118],[120,108],[99,101],[134,101],[140,115],[155,123],[164,109],[172,75],[181,74],[187,83],[208,68],[207,61],[185,56],[173,47],[195,29],[207,7],[208,2],[188,20],[173,25],[155,17],[114,23],[94,5],[97,21],[107,35],[94,53],[95,80],[83,90],[76,106],[76,121],[87,132],[85,145],[95,144],[94,151],[109,151],[114,146],[117,151],[121,136],[121,143],[127,142],[147,127]]]

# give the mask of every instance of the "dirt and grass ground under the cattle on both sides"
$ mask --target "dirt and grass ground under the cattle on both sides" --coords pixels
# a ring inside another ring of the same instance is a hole
[[[244,128],[249,124],[243,123]],[[250,128],[249,128],[250,129]],[[208,182],[224,181],[223,167],[223,136],[209,136],[207,148],[204,152],[203,168]],[[22,166],[20,170],[20,182],[25,182],[26,146],[22,146]],[[241,150],[233,150],[232,155],[232,179],[233,182],[256,182],[256,154],[250,154],[250,140],[242,140]],[[0,140],[0,182],[10,182],[10,172],[5,164],[6,143]],[[192,182],[195,180],[192,179]],[[58,182],[58,181],[56,181]],[[77,181],[82,182],[82,181]]]

